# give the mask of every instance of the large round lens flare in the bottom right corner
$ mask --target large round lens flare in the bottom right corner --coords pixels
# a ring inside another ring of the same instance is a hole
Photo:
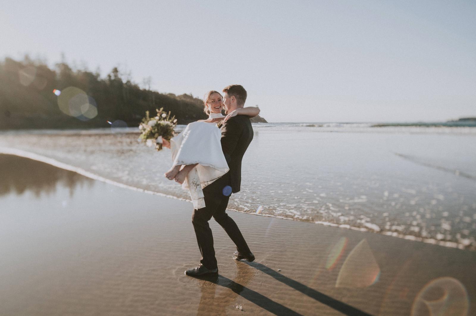
[[[411,316],[466,316],[469,299],[465,286],[457,279],[432,280],[417,294]]]

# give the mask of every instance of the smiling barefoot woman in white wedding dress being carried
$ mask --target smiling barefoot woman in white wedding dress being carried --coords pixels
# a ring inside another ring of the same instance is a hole
[[[189,189],[196,209],[205,207],[202,189],[229,170],[221,150],[221,132],[216,123],[236,115],[255,117],[259,114],[257,107],[246,107],[227,113],[227,116],[222,115],[223,97],[215,90],[205,94],[203,103],[208,119],[188,124],[170,142],[164,139],[162,144],[172,150],[173,160],[165,177],[175,179],[183,188]]]

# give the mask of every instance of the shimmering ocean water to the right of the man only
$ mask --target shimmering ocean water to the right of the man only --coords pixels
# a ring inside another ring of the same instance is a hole
[[[474,247],[475,132],[259,126],[243,166],[252,179],[234,203],[246,211],[261,205],[262,214]]]

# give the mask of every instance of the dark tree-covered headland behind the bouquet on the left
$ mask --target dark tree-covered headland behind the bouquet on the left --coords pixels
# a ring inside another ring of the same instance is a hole
[[[99,70],[65,61],[50,69],[28,56],[22,61],[7,57],[0,62],[0,130],[98,128],[109,127],[108,121],[133,127],[156,108],[171,111],[179,124],[207,118],[201,99],[151,91],[147,80],[144,85],[118,67],[102,78]]]

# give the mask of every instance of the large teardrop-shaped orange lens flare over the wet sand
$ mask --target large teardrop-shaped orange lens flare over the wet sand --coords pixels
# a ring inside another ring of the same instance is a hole
[[[378,281],[380,268],[366,239],[350,251],[337,276],[336,288],[367,288]]]

